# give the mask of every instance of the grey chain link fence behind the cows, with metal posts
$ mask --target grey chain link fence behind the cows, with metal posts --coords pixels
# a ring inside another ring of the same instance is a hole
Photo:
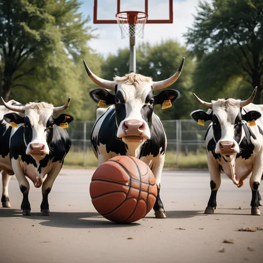
[[[73,121],[68,127],[68,133],[72,140],[71,152],[83,153],[83,165],[85,155],[92,151],[90,133],[95,121]],[[204,135],[205,126],[198,125],[194,120],[166,120],[162,121],[167,136],[167,151],[175,152],[177,166],[179,155],[187,156],[189,153],[205,153]]]

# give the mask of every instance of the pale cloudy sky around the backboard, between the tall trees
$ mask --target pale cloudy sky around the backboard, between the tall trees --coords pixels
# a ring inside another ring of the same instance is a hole
[[[121,39],[121,31],[118,24],[93,24],[93,0],[82,0],[83,5],[80,11],[89,15],[89,25],[98,39],[91,40],[89,46],[96,53],[106,57],[109,53],[116,54],[118,49],[129,47],[129,39]],[[149,42],[158,44],[162,40],[174,40],[181,45],[185,44],[183,33],[187,27],[191,27],[194,21],[193,14],[196,14],[196,7],[199,0],[173,0],[174,23],[173,24],[146,24],[144,27],[144,38],[136,37],[136,44]],[[208,2],[211,2],[209,0]],[[121,11],[142,10],[144,11],[143,0],[121,0]],[[149,18],[168,18],[168,0],[148,0]],[[111,19],[115,17],[117,0],[98,0],[98,18]]]

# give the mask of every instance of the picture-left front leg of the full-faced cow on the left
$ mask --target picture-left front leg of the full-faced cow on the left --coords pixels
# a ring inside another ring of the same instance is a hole
[[[12,167],[14,170],[15,177],[19,183],[19,186],[20,186],[20,191],[23,194],[23,201],[21,204],[21,209],[23,210],[23,216],[30,216],[31,215],[31,212],[30,212],[31,208],[30,208],[30,203],[28,200],[28,193],[29,193],[29,189],[30,189],[29,182],[26,179],[25,173],[24,173],[22,167],[20,166],[19,162],[12,159],[11,163],[12,163]]]

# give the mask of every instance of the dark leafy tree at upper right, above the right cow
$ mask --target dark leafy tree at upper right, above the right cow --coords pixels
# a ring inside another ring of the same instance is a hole
[[[194,24],[184,35],[192,53],[201,60],[194,75],[194,89],[200,90],[206,98],[216,96],[226,91],[229,85],[240,86],[241,78],[242,86],[247,82],[252,89],[258,87],[254,102],[260,103],[262,24],[261,0],[214,0],[212,5],[199,3]],[[230,88],[228,93],[236,92]]]

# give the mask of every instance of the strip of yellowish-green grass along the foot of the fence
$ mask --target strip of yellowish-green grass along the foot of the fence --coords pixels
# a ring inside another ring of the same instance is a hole
[[[69,152],[65,158],[64,166],[71,168],[97,168],[98,160],[93,152],[85,154],[85,165],[83,165],[83,152]],[[179,168],[207,168],[206,154],[193,154],[188,156],[179,155]],[[173,170],[177,169],[176,152],[166,152],[164,168]]]

